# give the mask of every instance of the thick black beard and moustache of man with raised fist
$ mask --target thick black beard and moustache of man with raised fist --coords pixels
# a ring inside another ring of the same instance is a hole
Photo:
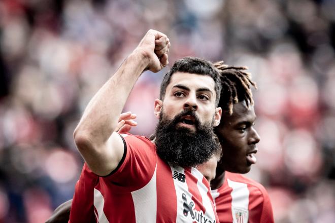
[[[193,110],[184,110],[173,120],[162,115],[156,126],[155,144],[158,156],[172,166],[195,167],[207,162],[219,150],[214,139],[213,122],[200,124]],[[195,118],[196,131],[177,127],[181,117],[191,115]]]

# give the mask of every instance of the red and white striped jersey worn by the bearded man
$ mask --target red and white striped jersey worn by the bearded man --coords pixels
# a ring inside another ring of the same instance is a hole
[[[210,185],[202,173],[166,164],[146,137],[121,135],[125,153],[119,166],[98,177],[94,185],[98,222],[218,222]],[[80,180],[85,181],[85,176]],[[83,188],[76,187],[74,201]],[[73,202],[71,212],[76,206]],[[70,222],[75,221],[70,218]]]

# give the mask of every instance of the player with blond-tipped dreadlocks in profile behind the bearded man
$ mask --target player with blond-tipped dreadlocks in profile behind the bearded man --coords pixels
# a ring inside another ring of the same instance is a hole
[[[251,86],[251,74],[246,67],[228,66],[216,62],[220,70],[222,108],[220,125],[215,128],[222,158],[216,177],[211,181],[212,195],[220,222],[274,222],[269,195],[264,187],[241,175],[256,163],[256,144],[260,138],[254,129],[256,119]],[[206,165],[205,165],[206,166]],[[229,172],[228,172],[229,171]]]

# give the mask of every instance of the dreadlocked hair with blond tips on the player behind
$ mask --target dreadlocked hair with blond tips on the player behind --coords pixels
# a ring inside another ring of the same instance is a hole
[[[232,114],[233,104],[245,101],[247,107],[254,104],[251,86],[257,89],[256,83],[251,81],[251,73],[246,72],[247,67],[236,67],[224,64],[223,61],[214,63],[219,70],[222,84],[219,107]]]

